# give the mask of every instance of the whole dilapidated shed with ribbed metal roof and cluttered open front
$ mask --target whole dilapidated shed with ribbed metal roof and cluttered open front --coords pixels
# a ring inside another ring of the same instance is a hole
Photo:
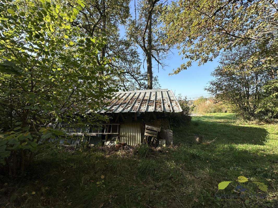
[[[109,117],[108,122],[88,124],[86,127],[70,127],[66,132],[75,137],[68,139],[68,144],[87,142],[90,145],[99,143],[107,145],[110,141],[118,140],[127,145],[137,145],[143,142],[146,125],[149,128],[153,126],[161,129],[157,140],[163,139],[163,135],[171,137],[169,116],[172,113],[182,112],[173,91],[168,89],[117,92],[105,103],[106,106],[100,110],[89,109],[86,113],[106,115]]]

